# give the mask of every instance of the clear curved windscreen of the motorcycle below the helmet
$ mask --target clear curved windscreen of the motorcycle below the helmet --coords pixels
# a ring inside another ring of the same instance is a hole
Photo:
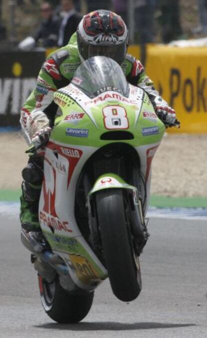
[[[85,60],[77,68],[71,82],[90,97],[110,90],[128,96],[128,83],[121,67],[105,56],[94,56]]]

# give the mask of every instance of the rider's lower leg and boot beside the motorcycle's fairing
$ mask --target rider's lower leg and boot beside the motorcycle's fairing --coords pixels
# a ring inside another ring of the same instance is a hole
[[[43,258],[51,247],[44,237],[38,219],[39,197],[43,178],[43,158],[30,156],[28,165],[22,170],[23,182],[20,197],[20,221],[22,243],[32,252],[34,268],[48,282],[54,280],[56,270]]]

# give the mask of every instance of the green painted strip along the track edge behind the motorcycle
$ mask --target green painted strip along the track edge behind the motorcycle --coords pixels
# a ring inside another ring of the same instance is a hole
[[[0,189],[0,201],[19,201],[21,190]],[[207,197],[169,197],[151,195],[150,206],[165,207],[205,207],[207,208]]]

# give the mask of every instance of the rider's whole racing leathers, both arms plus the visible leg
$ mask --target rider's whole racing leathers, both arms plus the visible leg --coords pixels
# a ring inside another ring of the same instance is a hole
[[[21,109],[20,124],[28,144],[34,144],[37,147],[41,142],[48,140],[50,128],[53,126],[55,115],[58,112],[58,106],[53,101],[53,94],[57,89],[70,83],[80,62],[76,33],[71,36],[66,46],[50,54],[44,61],[37,77],[36,87]],[[167,116],[168,119],[175,119],[174,110],[168,107],[167,102],[154,89],[152,81],[146,75],[144,67],[138,59],[126,54],[121,68],[129,83],[146,91],[155,111],[164,114],[165,119]],[[20,220],[22,226],[27,230],[39,228],[38,200],[43,176],[42,162],[42,158],[36,154],[30,155],[27,169],[25,168],[22,172],[24,180],[22,182]],[[29,170],[33,173],[28,174]]]

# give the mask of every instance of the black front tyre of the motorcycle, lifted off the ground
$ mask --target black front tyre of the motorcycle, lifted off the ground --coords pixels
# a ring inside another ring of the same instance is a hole
[[[120,188],[96,192],[96,216],[112,291],[118,299],[131,301],[138,296],[141,283],[140,279],[137,280],[123,193]]]

